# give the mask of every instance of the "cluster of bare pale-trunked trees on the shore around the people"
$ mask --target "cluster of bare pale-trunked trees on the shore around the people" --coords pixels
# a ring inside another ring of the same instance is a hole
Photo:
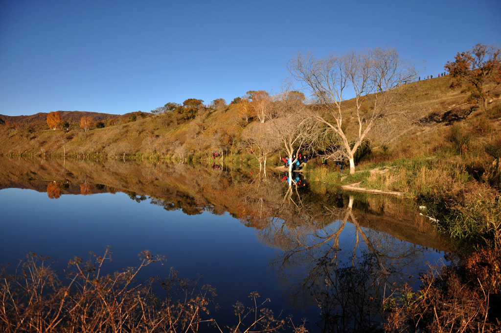
[[[289,71],[314,103],[305,104],[305,94],[297,90],[275,96],[248,91],[238,102],[239,115],[246,122],[256,117],[261,126],[244,131],[248,149],[259,154],[258,160],[266,160],[266,142],[272,139],[293,162],[302,150],[321,149],[327,158],[348,159],[351,174],[355,153],[368,135],[387,132],[389,124],[405,118],[406,90],[400,86],[416,75],[412,64],[391,48],[324,58],[298,54],[289,62]],[[348,103],[346,95],[354,96],[354,103]]]

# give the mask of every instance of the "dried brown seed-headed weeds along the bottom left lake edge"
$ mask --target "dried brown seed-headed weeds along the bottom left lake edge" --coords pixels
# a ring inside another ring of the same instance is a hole
[[[220,325],[209,315],[215,307],[214,288],[198,286],[198,280],[182,279],[170,270],[168,277],[150,278],[138,283],[135,277],[145,266],[163,261],[149,251],[139,254],[140,265],[103,275],[103,256],[92,254],[83,262],[75,257],[69,272],[59,278],[48,260],[30,253],[16,274],[2,270],[0,282],[0,331],[10,332],[198,332],[220,331]],[[160,289],[160,293],[154,290]],[[236,325],[226,325],[230,332],[277,332],[285,328],[285,319],[258,302],[251,293],[253,305],[237,302]],[[292,324],[292,321],[291,321]],[[291,326],[289,326],[291,327]],[[294,327],[303,329],[304,326]],[[305,330],[303,330],[305,331]]]

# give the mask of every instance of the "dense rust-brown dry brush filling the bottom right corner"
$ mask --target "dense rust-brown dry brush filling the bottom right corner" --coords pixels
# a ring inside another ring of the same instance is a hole
[[[414,292],[408,286],[386,300],[386,332],[498,332],[501,325],[501,255],[474,253],[459,267],[432,269]]]

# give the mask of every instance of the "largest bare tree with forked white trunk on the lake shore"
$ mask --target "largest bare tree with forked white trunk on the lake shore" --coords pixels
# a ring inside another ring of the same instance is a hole
[[[355,173],[355,152],[367,135],[375,128],[384,131],[383,123],[389,124],[405,113],[404,90],[398,87],[416,74],[392,48],[325,58],[300,53],[288,68],[318,102],[308,116],[324,124],[339,141],[328,157],[348,158],[350,174]],[[354,96],[354,103],[346,104],[347,95]]]

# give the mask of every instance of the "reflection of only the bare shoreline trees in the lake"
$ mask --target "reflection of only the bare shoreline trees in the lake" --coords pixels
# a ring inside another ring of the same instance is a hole
[[[260,210],[260,217],[271,217],[268,224],[260,222],[267,227],[259,237],[283,250],[273,263],[292,290],[291,301],[315,302],[320,308],[316,324],[322,331],[380,328],[385,294],[410,278],[409,267],[422,250],[386,233],[362,228],[352,196],[347,207],[339,194],[338,207],[318,210],[303,202],[294,182],[285,191],[281,204],[275,202],[275,212]],[[354,232],[353,241],[347,241],[343,232]],[[294,276],[294,272],[300,273]]]

